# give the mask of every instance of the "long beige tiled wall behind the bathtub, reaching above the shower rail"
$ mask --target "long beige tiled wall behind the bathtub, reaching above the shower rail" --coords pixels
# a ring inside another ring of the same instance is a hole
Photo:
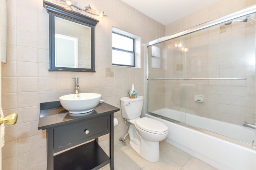
[[[183,30],[218,18],[256,1],[227,0],[187,16],[166,26],[169,31]],[[255,17],[255,15],[251,15]],[[254,20],[252,20],[254,21]],[[176,38],[183,40],[190,51],[185,55],[168,48],[172,59],[165,76],[181,74],[182,78],[246,77],[247,80],[186,80],[165,83],[170,93],[165,107],[242,125],[255,123],[255,27],[251,23],[233,22]],[[180,55],[180,58],[177,57]],[[175,58],[175,57],[174,57]],[[177,71],[177,66],[180,71]],[[172,72],[173,75],[170,74]],[[169,84],[169,85],[167,85]],[[203,95],[204,102],[194,102],[194,95]],[[168,105],[171,107],[168,107]]]

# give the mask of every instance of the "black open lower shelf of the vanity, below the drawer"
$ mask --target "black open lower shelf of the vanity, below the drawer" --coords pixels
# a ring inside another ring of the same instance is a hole
[[[96,140],[54,156],[54,170],[97,170],[109,163]]]

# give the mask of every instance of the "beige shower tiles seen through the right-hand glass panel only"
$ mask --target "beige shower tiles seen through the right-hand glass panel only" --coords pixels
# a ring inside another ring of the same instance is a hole
[[[255,123],[255,29],[249,22],[233,22],[186,35],[191,53],[183,61],[183,77],[247,78],[182,82],[187,113],[238,125]],[[205,102],[195,102],[194,95],[203,95]]]

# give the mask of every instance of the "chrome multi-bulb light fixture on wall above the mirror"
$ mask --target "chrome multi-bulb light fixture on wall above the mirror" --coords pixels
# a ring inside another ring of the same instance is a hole
[[[92,6],[90,6],[90,4],[83,8],[82,6],[80,6],[80,4],[78,4],[78,2],[72,2],[71,0],[54,0],[54,1],[61,3],[61,4],[66,3],[75,12],[85,11],[85,12],[88,12],[90,14],[100,16],[100,17],[106,16],[106,15],[104,15],[104,11],[98,12],[96,10],[93,10]]]

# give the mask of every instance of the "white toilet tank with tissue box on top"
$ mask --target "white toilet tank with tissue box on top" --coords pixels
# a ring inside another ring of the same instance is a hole
[[[123,97],[120,98],[120,101],[124,119],[131,120],[140,117],[143,106],[143,96],[137,96],[135,99]]]

